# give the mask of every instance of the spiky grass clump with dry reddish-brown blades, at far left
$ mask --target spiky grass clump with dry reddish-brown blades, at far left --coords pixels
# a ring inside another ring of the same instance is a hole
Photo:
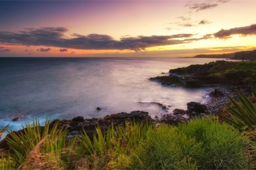
[[[64,167],[62,158],[66,154],[66,129],[58,129],[56,122],[50,130],[50,121],[46,120],[42,128],[39,120],[32,126],[26,124],[20,133],[10,133],[7,143],[14,152],[15,168],[47,169]]]

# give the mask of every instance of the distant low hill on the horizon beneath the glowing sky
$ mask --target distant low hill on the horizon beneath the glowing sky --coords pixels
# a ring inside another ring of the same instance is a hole
[[[234,53],[228,53],[228,54],[200,54],[200,55],[194,56],[194,58],[229,58],[229,59],[256,60],[256,50],[234,52]]]

